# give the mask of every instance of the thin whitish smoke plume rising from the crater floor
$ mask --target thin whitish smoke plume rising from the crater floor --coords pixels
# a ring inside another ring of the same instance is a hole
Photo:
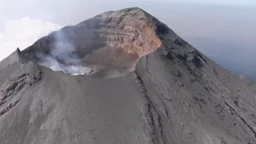
[[[94,72],[92,67],[81,62],[74,44],[70,42],[69,38],[66,38],[66,34],[62,30],[53,35],[55,41],[50,46],[50,54],[37,54],[37,57],[40,58],[39,65],[70,75],[88,75]]]

